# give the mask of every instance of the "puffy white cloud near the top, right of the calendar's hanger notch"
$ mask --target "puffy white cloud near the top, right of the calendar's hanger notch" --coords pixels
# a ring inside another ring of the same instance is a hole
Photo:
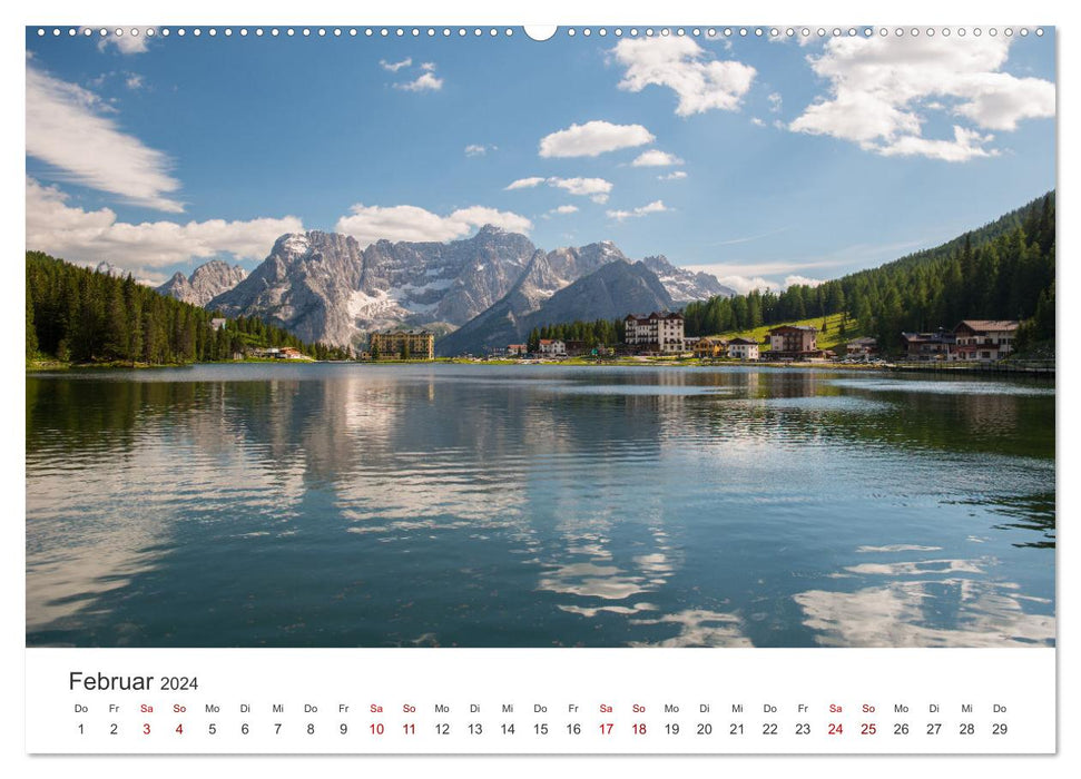
[[[678,116],[736,110],[756,75],[749,65],[709,59],[688,37],[621,40],[612,53],[626,67],[620,89],[640,92],[650,85],[668,87],[679,97]]]

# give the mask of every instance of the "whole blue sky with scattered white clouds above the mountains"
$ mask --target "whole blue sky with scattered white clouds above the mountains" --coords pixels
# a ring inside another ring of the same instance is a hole
[[[1055,181],[1050,30],[67,29],[27,30],[28,248],[150,282],[212,257],[252,268],[295,229],[366,245],[494,221],[778,288],[934,245]]]

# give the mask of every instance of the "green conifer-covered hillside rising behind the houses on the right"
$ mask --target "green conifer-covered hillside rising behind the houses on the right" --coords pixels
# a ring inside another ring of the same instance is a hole
[[[942,246],[816,287],[714,297],[684,309],[687,335],[844,314],[886,348],[902,331],[1019,319],[1020,346],[1054,338],[1054,193]]]

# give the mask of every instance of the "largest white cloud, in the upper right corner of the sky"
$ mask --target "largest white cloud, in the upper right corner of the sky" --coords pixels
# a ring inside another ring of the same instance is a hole
[[[967,119],[983,130],[1013,130],[1018,122],[1054,116],[1051,81],[1001,72],[1011,39],[832,38],[808,57],[829,81],[788,128],[828,135],[879,155],[920,155],[946,161],[994,156],[992,136],[954,126],[953,139],[927,139],[928,114]]]

